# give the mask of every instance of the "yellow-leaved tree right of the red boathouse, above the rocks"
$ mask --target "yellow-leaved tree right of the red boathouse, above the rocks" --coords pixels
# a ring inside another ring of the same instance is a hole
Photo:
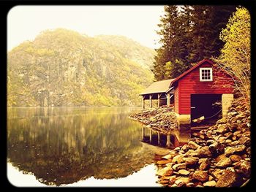
[[[225,45],[217,59],[217,63],[231,74],[236,88],[246,101],[250,99],[251,81],[250,28],[249,11],[244,7],[239,7],[219,36]]]

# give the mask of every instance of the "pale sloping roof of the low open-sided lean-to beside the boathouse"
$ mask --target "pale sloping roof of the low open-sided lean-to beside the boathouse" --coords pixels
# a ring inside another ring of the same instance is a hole
[[[151,85],[148,86],[140,95],[146,95],[151,93],[167,93],[170,90],[170,84],[175,79],[170,80],[162,80],[153,82]]]

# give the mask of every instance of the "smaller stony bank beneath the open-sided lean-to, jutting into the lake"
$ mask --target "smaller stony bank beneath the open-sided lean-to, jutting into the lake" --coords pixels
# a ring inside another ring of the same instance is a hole
[[[138,120],[155,131],[163,134],[170,134],[173,130],[178,130],[178,123],[173,107],[160,107],[143,110],[129,116],[132,120]]]

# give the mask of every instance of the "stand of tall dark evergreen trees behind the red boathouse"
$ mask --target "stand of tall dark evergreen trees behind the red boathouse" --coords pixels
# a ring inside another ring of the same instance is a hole
[[[178,77],[203,58],[218,56],[223,42],[219,33],[235,6],[165,6],[157,34],[162,47],[154,61],[156,80]]]

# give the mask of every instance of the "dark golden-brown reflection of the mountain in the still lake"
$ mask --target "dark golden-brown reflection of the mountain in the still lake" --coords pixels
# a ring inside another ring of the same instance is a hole
[[[12,108],[7,157],[45,184],[126,177],[152,162],[131,108]],[[133,109],[135,110],[135,109]]]

